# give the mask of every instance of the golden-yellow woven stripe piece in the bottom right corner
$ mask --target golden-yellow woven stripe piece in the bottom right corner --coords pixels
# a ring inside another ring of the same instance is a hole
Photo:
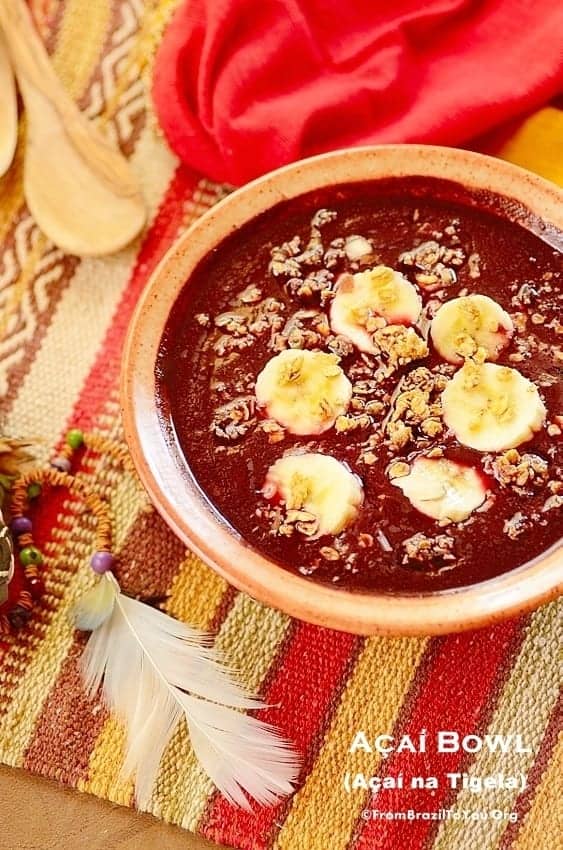
[[[563,732],[513,850],[546,850],[561,846],[563,835]]]

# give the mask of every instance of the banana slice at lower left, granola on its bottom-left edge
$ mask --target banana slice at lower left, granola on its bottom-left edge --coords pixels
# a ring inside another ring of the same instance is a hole
[[[364,501],[361,479],[346,464],[316,452],[277,460],[268,470],[262,493],[270,501],[283,502],[289,519],[293,511],[310,540],[339,534]]]

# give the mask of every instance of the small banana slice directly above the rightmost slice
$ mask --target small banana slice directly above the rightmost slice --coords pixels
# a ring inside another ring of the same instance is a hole
[[[487,295],[452,298],[440,307],[430,327],[434,347],[450,363],[463,363],[479,348],[487,360],[497,360],[513,333],[506,310]]]

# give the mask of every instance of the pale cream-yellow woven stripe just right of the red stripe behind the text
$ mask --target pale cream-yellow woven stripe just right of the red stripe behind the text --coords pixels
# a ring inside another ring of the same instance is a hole
[[[489,752],[483,749],[467,771],[470,776],[526,776],[534,763],[545,728],[558,695],[558,653],[563,644],[563,618],[560,602],[540,608],[526,630],[518,658],[504,686],[487,732],[522,735],[531,753]],[[518,790],[484,790],[480,794],[461,791],[454,809],[487,812],[512,811]],[[433,850],[492,850],[508,821],[443,821]]]

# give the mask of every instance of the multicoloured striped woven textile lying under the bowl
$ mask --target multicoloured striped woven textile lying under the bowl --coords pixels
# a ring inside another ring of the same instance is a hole
[[[135,245],[110,259],[64,256],[47,242],[22,199],[22,163],[0,182],[0,397],[3,428],[56,445],[69,426],[122,439],[117,386],[124,334],[138,295],[174,239],[223,193],[178,165],[147,110],[152,57],[176,0],[36,0],[57,71],[82,108],[132,160],[151,207]],[[22,135],[25,126],[22,123]],[[563,183],[563,113],[546,108],[500,153]],[[555,850],[562,829],[563,738],[558,737],[561,606],[494,628],[435,639],[361,639],[305,625],[237,593],[167,530],[137,482],[105,458],[80,471],[111,499],[118,578],[124,590],[160,599],[171,615],[210,629],[251,688],[272,706],[266,719],[305,758],[289,801],[253,815],[234,811],[199,769],[185,730],[172,741],[150,810],[244,850]],[[76,661],[84,637],[67,612],[91,581],[93,525],[79,503],[53,495],[36,538],[47,554],[47,596],[0,657],[0,760],[130,806],[119,779],[123,730],[83,696]],[[358,730],[396,735],[426,729],[521,733],[527,754],[482,751],[385,762],[349,753]],[[347,794],[346,770],[443,778],[524,773],[523,792],[366,791]],[[362,810],[500,810],[518,819],[364,820]]]

